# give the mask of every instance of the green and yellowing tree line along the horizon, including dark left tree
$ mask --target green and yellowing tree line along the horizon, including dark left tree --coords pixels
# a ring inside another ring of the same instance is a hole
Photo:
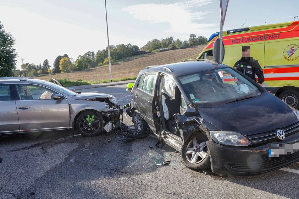
[[[49,65],[47,59],[44,60],[43,64],[24,63],[21,65],[21,70],[16,70],[16,57],[17,53],[12,48],[14,45],[14,38],[6,33],[3,25],[0,21],[0,77],[11,77],[11,76],[23,76],[23,77],[36,77],[44,74],[51,73],[68,73],[72,71],[80,71],[86,68],[102,66],[109,63],[108,60],[108,47],[97,52],[88,51],[84,55],[79,55],[74,61],[67,54],[63,56],[59,55],[56,57],[53,67]],[[7,42],[3,42],[6,41]],[[189,48],[191,46],[206,45],[208,39],[202,36],[196,36],[191,34],[188,41],[180,41],[179,39],[168,37],[166,39],[153,39],[148,41],[145,46],[140,48],[132,44],[120,44],[110,46],[110,61],[121,60],[126,57],[139,55],[144,52],[159,52],[164,50],[174,50]]]

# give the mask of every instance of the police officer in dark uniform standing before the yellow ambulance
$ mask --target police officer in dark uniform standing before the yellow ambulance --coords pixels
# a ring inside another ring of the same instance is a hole
[[[258,61],[252,59],[250,56],[250,46],[242,46],[242,57],[239,61],[235,62],[234,68],[246,74],[248,77],[252,78],[255,82],[262,85],[264,82],[263,69],[259,65]],[[255,78],[257,75],[257,78]]]

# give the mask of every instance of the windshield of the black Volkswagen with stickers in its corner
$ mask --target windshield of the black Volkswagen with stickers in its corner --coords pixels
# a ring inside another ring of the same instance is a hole
[[[198,106],[233,103],[261,94],[232,68],[201,71],[179,79],[191,101]]]

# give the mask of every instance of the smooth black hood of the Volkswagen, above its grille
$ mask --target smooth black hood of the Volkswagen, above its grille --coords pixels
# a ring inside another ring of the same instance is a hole
[[[235,131],[242,135],[268,132],[298,121],[288,105],[268,92],[226,105],[198,107],[198,112],[219,130]]]

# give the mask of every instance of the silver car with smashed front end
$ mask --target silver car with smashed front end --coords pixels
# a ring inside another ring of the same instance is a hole
[[[123,111],[109,94],[75,92],[36,78],[0,78],[0,135],[73,128],[110,132]]]

